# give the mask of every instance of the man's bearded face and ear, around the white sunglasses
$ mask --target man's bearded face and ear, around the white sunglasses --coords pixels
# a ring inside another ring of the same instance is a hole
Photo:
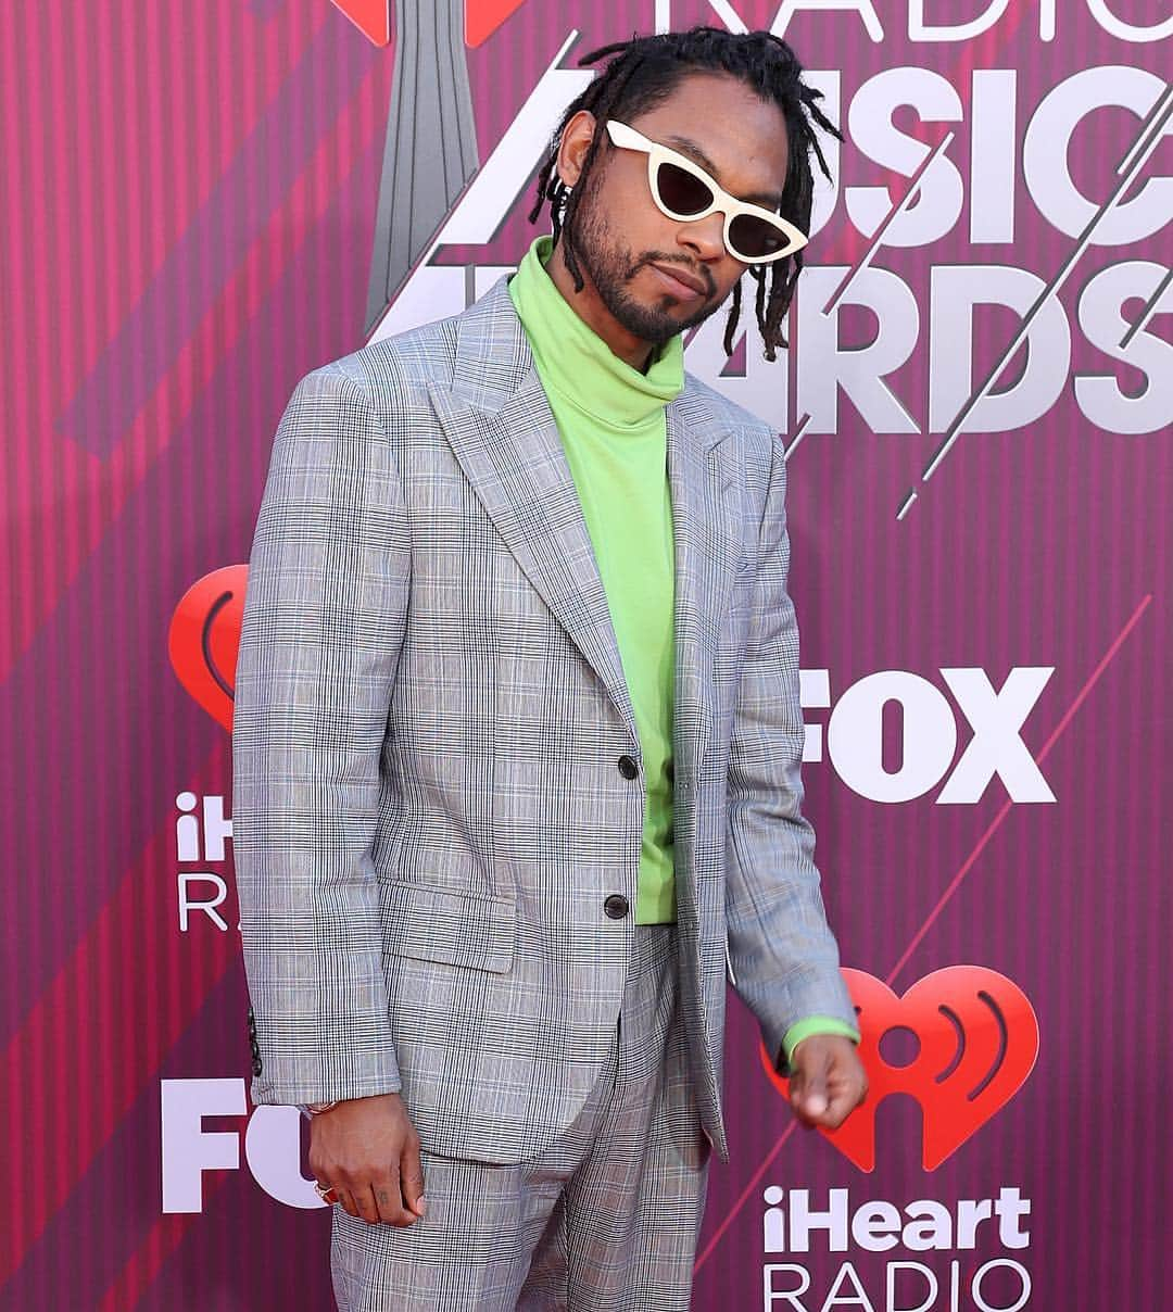
[[[690,75],[663,104],[625,122],[694,160],[739,199],[778,207],[786,182],[786,119],[737,79]],[[577,181],[594,129],[586,110],[567,125],[559,156],[563,181]],[[604,131],[604,123],[597,129]],[[647,155],[619,150],[606,135],[585,185],[573,248],[588,281],[584,294],[593,287],[600,304],[583,306],[581,312],[613,349],[626,354],[611,340],[614,329],[621,344],[632,338],[660,346],[722,306],[747,265],[726,249],[720,213],[698,220],[669,218],[652,199]],[[657,264],[690,276],[703,290],[690,295]],[[607,318],[611,324],[600,321]]]

